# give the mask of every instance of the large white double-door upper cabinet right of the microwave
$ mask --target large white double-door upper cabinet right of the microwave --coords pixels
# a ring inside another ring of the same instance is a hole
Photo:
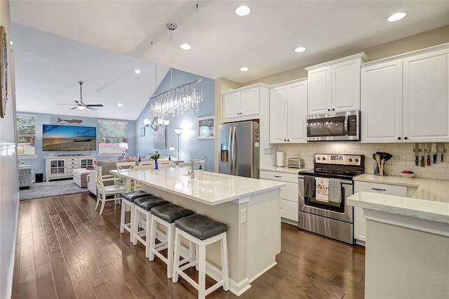
[[[361,142],[449,141],[449,44],[361,67]]]

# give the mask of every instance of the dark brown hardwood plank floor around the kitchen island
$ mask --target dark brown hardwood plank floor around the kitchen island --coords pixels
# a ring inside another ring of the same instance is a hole
[[[142,244],[120,234],[120,206],[103,215],[88,193],[20,201],[12,298],[196,298]],[[365,248],[282,224],[278,265],[240,298],[363,298]],[[222,288],[207,298],[239,298]]]

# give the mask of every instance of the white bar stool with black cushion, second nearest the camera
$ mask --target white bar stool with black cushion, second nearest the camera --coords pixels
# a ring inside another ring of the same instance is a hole
[[[192,215],[194,211],[175,204],[167,204],[165,206],[158,206],[152,208],[152,224],[151,234],[149,239],[149,260],[154,260],[154,255],[160,258],[163,263],[167,265],[167,277],[171,278],[173,275],[173,245],[175,244],[175,220]],[[163,225],[166,232],[162,232],[165,237],[158,238],[161,235],[157,232],[158,223]],[[161,241],[156,244],[156,239]],[[163,256],[161,251],[167,249],[167,257]]]

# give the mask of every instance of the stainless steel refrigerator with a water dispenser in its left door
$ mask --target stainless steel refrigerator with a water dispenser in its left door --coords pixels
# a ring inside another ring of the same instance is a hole
[[[259,123],[239,121],[218,129],[220,173],[259,178]]]

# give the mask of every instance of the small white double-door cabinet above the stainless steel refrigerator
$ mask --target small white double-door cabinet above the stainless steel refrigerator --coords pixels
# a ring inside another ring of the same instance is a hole
[[[266,87],[251,86],[223,93],[223,122],[258,119],[260,88]]]

